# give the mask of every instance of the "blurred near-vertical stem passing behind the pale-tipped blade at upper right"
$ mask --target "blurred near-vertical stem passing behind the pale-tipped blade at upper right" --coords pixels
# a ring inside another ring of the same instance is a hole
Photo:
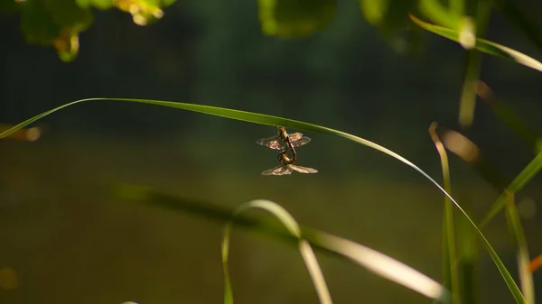
[[[490,20],[491,2],[479,1],[476,12],[476,32],[480,37],[485,36],[485,32]],[[467,60],[465,62],[465,75],[463,78],[463,91],[459,104],[459,124],[463,127],[469,127],[474,119],[474,106],[476,104],[476,95],[474,93],[475,82],[480,78],[481,51],[472,49],[467,51]]]

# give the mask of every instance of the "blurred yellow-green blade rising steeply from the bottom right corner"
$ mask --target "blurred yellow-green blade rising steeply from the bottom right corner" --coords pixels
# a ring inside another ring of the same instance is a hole
[[[506,217],[509,223],[510,233],[514,236],[516,245],[518,246],[518,268],[519,281],[521,283],[521,291],[525,295],[528,303],[535,302],[535,283],[533,281],[533,273],[530,271],[530,258],[528,255],[528,246],[521,226],[518,208],[514,201],[514,194],[507,193]]]

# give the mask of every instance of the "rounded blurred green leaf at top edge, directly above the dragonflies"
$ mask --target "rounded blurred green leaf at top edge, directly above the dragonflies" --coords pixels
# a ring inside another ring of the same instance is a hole
[[[262,32],[270,36],[304,37],[332,22],[336,0],[258,0]]]

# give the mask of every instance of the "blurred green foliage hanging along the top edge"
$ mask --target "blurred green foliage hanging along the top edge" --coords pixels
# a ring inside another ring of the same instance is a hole
[[[21,15],[21,31],[28,43],[53,46],[61,60],[75,59],[79,51],[79,32],[93,22],[93,9],[119,9],[132,14],[135,24],[146,25],[160,19],[163,9],[176,0],[6,0],[0,11]],[[354,0],[351,0],[354,1]],[[471,24],[469,14],[478,14],[479,5],[503,11],[520,31],[536,43],[539,32],[518,5],[509,1],[453,0],[444,4],[439,0],[358,0],[360,13],[389,41],[397,35],[412,32],[409,14],[416,14],[436,25],[462,32],[464,24]],[[449,3],[448,3],[449,2]],[[258,0],[261,31],[282,38],[300,38],[325,29],[335,18],[336,0]],[[465,21],[467,23],[465,23]],[[416,29],[419,30],[419,29]],[[475,35],[476,29],[468,27]],[[416,35],[406,37],[417,43]],[[537,43],[539,45],[539,43]]]

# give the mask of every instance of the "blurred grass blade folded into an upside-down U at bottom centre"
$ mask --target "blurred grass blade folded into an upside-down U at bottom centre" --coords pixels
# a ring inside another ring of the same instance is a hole
[[[332,296],[330,295],[330,290],[328,290],[325,279],[323,278],[322,270],[320,265],[316,260],[316,256],[313,253],[313,248],[311,244],[305,240],[301,235],[301,228],[295,222],[294,217],[291,216],[283,207],[280,207],[278,204],[264,199],[258,199],[249,201],[246,204],[241,205],[236,210],[233,218],[226,224],[224,229],[224,236],[222,238],[222,266],[224,269],[224,303],[231,304],[233,303],[233,292],[231,290],[231,283],[229,280],[228,273],[228,253],[229,253],[229,238],[231,235],[231,229],[233,226],[233,220],[239,214],[245,212],[249,208],[261,208],[267,212],[273,214],[278,218],[282,224],[288,229],[288,232],[298,239],[299,253],[303,256],[304,263],[307,267],[307,270],[311,274],[313,279],[314,289],[318,293],[318,298],[322,304],[332,304]]]

